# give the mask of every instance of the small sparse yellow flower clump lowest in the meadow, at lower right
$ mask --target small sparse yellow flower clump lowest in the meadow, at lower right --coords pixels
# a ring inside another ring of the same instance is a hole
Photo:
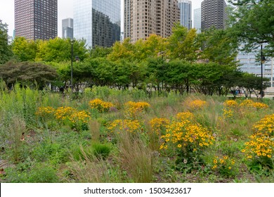
[[[228,155],[223,155],[223,157],[215,156],[211,163],[212,170],[218,171],[220,174],[225,176],[233,176],[237,173],[237,167],[235,167],[235,160],[228,157]]]

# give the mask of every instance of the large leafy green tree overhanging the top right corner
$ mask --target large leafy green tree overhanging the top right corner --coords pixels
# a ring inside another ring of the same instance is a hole
[[[274,1],[231,1],[237,8],[230,18],[233,36],[244,43],[244,51],[252,51],[266,44],[266,56],[274,56]]]

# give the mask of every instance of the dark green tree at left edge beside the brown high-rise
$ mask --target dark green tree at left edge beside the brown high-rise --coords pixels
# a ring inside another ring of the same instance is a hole
[[[6,63],[11,59],[13,53],[8,44],[8,25],[2,23],[0,19],[0,64]]]

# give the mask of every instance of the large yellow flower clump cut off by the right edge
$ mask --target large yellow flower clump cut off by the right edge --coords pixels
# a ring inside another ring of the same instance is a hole
[[[267,115],[253,126],[254,134],[244,145],[242,153],[247,159],[257,160],[262,165],[268,165],[273,158],[274,147],[274,114]]]

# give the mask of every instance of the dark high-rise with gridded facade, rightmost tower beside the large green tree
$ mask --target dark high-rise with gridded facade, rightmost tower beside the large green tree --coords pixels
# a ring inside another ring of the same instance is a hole
[[[202,1],[202,30],[206,30],[209,27],[224,29],[226,18],[225,0]]]

